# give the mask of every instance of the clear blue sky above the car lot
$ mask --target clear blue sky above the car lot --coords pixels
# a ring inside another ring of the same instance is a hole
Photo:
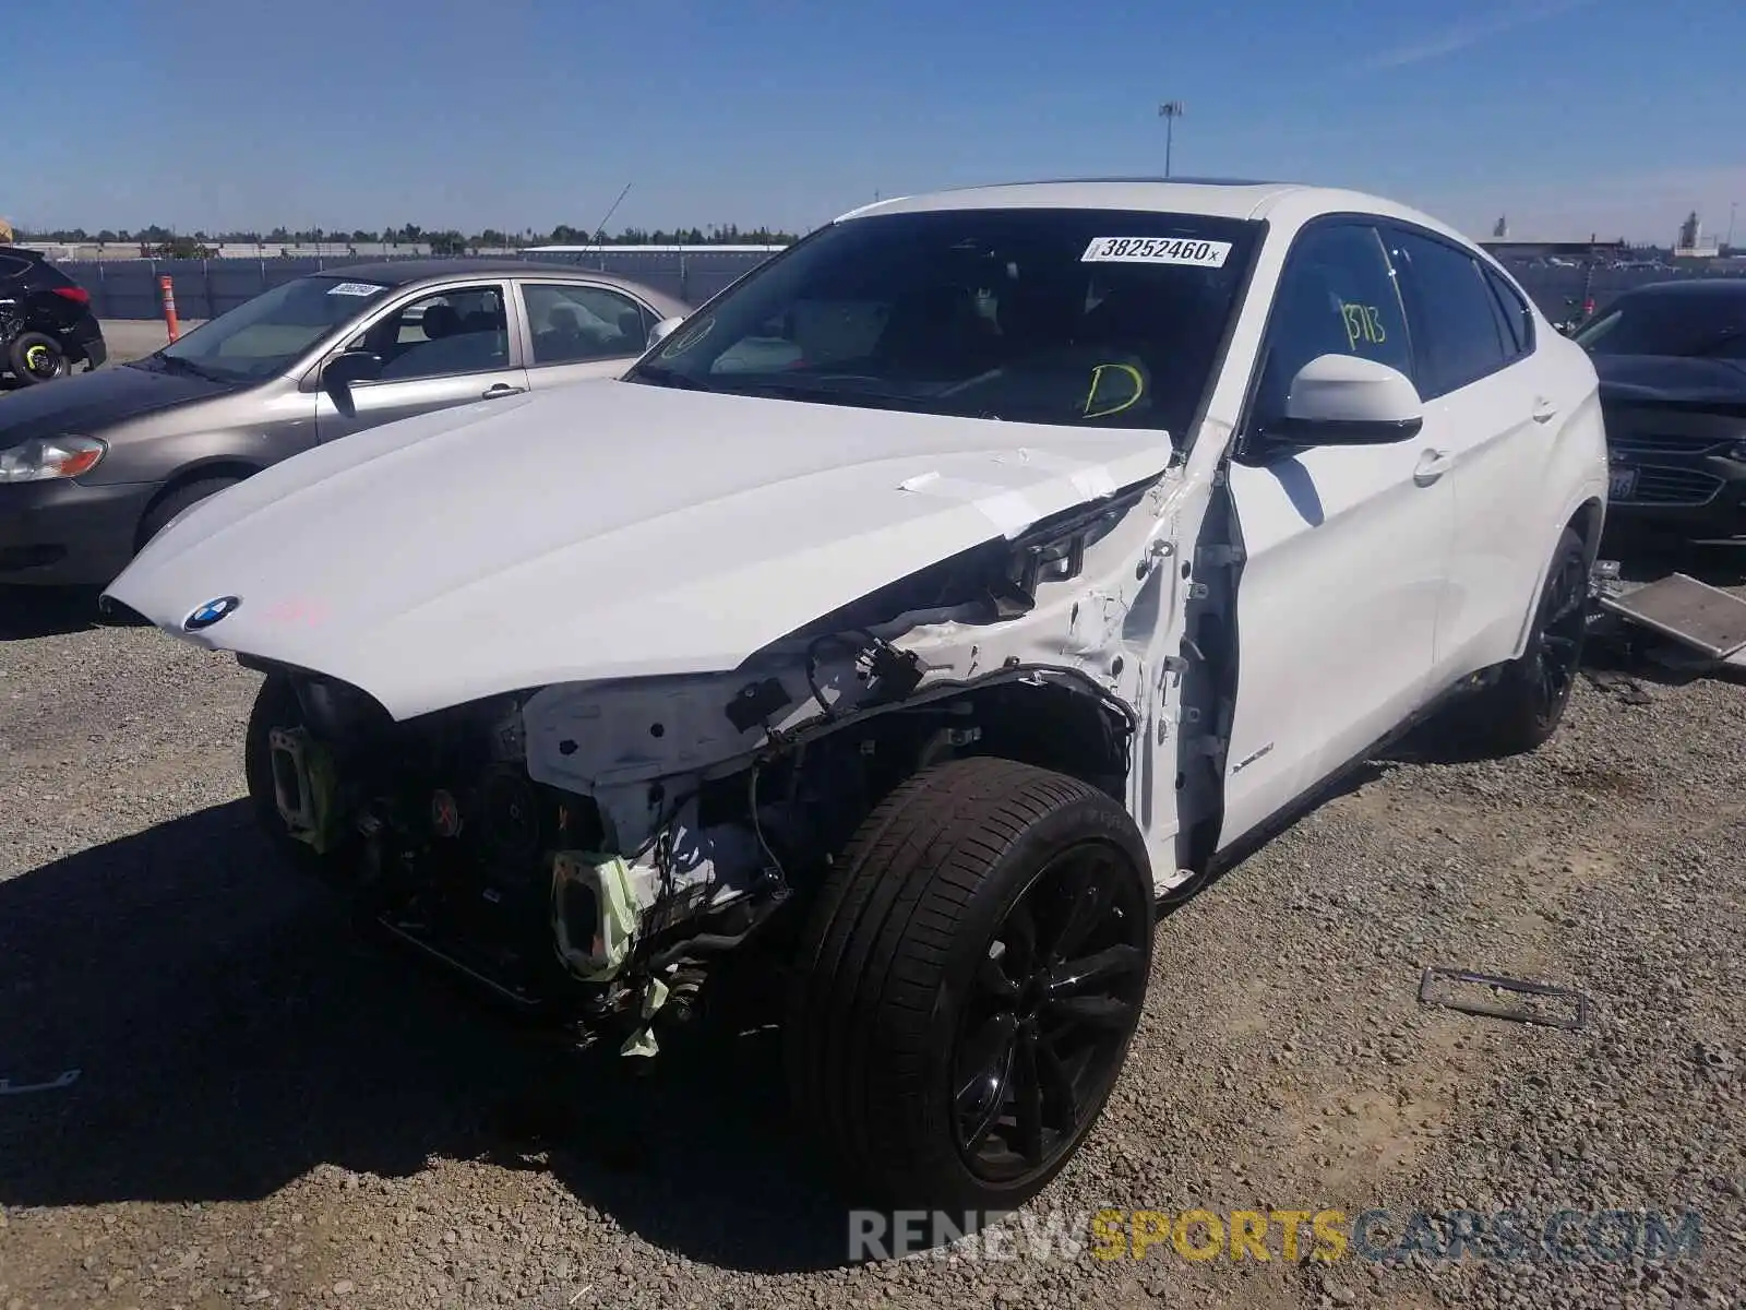
[[[1475,234],[1667,241],[1695,208],[1725,236],[1746,201],[1739,0],[56,14],[7,77],[37,108],[0,213],[38,227],[548,231],[632,183],[615,229],[805,231],[876,192],[1158,173],[1166,98],[1177,173],[1355,185]]]

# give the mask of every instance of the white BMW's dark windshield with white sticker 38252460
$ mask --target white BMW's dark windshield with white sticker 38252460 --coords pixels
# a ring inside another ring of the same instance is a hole
[[[1180,433],[1255,231],[1121,210],[850,218],[747,274],[629,381]]]

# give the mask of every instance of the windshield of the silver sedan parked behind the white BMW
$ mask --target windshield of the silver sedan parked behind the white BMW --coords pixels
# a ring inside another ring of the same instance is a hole
[[[297,278],[218,314],[152,358],[178,362],[218,381],[272,377],[386,290],[344,274]]]

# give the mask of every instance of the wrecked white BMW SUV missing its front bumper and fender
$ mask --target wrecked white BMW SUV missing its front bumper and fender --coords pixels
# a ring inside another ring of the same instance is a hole
[[[663,327],[276,465],[110,597],[267,674],[265,828],[498,994],[646,1055],[782,966],[796,1111],[892,1203],[1055,1176],[1240,842],[1454,697],[1500,753],[1563,714],[1596,374],[1426,215],[894,199]]]

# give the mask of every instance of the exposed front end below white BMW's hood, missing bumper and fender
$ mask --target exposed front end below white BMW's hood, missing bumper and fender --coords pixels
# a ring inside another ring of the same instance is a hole
[[[780,936],[932,763],[1034,762],[1152,814],[1154,772],[1177,772],[1163,707],[1186,662],[1159,641],[1180,634],[1180,489],[1149,480],[997,536],[732,672],[395,721],[358,688],[239,657],[279,688],[251,725],[251,791],[396,938],[583,1041],[653,1053],[660,1011]],[[1137,748],[1168,763],[1137,769]],[[1149,824],[1172,870],[1177,817]]]

